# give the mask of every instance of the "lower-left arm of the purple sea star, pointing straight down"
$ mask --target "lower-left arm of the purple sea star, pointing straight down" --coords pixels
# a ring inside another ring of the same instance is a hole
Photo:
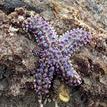
[[[41,99],[41,97],[46,97],[49,93],[55,68],[51,66],[51,62],[46,61],[45,58],[40,59],[38,64],[39,66],[35,71],[34,87],[38,98]]]

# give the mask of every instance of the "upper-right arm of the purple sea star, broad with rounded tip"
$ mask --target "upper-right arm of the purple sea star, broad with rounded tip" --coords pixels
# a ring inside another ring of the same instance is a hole
[[[91,34],[82,28],[66,32],[59,38],[59,47],[64,56],[72,55],[78,48],[90,42]]]

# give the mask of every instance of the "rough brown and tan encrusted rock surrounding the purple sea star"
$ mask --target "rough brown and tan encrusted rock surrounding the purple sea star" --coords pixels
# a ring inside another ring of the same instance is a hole
[[[26,5],[26,6],[25,6]],[[15,9],[17,7],[22,7]],[[33,7],[33,8],[31,8]],[[39,13],[58,34],[83,27],[93,34],[89,45],[71,56],[83,83],[70,88],[68,103],[58,100],[60,107],[107,106],[107,2],[106,0],[1,0],[0,1],[0,107],[38,107],[30,72],[36,66],[32,49],[36,43],[15,25],[16,17]],[[13,23],[12,23],[13,22]],[[57,90],[60,83],[54,87]],[[56,97],[59,92],[55,92]],[[46,107],[55,106],[54,102]]]

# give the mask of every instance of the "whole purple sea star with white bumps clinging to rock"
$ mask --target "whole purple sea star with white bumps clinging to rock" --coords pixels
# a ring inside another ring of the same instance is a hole
[[[83,29],[73,29],[58,38],[54,28],[42,17],[27,18],[23,28],[32,33],[39,47],[33,50],[39,57],[35,71],[35,90],[38,97],[49,93],[54,75],[59,76],[69,85],[80,85],[81,78],[70,63],[70,56],[91,40],[91,34]]]

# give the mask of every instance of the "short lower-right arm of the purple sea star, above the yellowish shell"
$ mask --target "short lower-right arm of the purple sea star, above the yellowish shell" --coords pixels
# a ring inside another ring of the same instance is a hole
[[[65,58],[60,61],[60,69],[63,79],[69,86],[76,86],[82,83],[79,74],[74,70],[72,64]]]

